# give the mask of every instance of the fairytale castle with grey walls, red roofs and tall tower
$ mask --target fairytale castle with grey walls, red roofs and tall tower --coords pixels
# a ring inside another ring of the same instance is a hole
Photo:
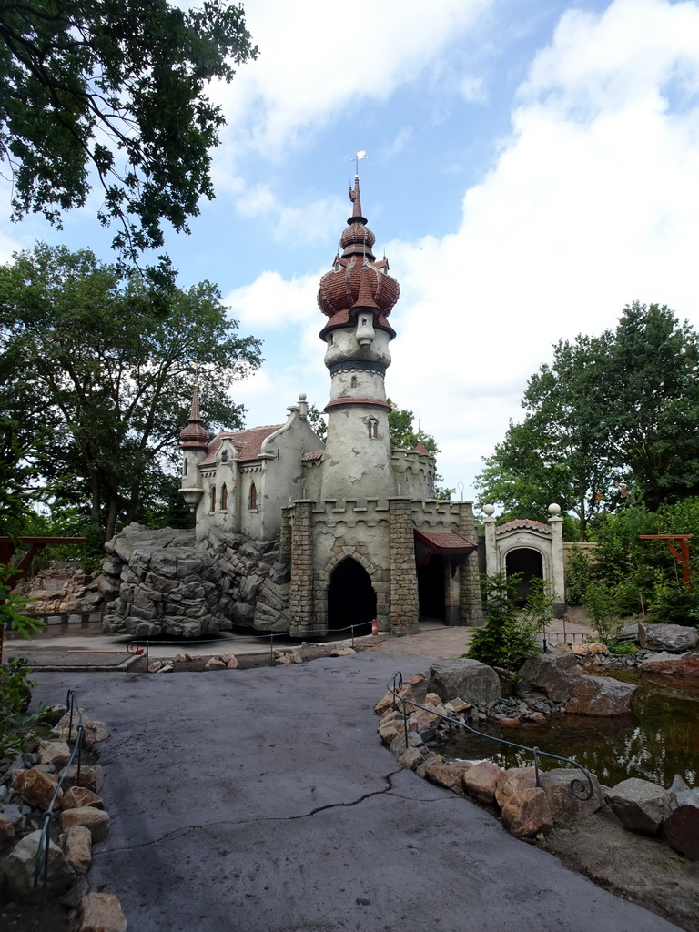
[[[330,373],[324,444],[303,394],[284,424],[210,440],[195,391],[180,435],[181,492],[199,541],[212,528],[279,541],[292,634],[372,619],[382,631],[417,633],[420,615],[479,624],[473,503],[433,498],[435,462],[424,447],[391,449],[385,377],[400,288],[373,252],[358,176],[349,197],[342,252],[318,294]]]

